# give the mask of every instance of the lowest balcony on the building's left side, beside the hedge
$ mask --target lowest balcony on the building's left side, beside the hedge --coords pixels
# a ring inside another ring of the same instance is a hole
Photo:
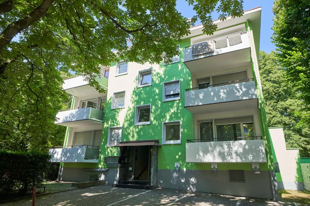
[[[51,162],[98,162],[99,146],[71,145],[49,149]]]

